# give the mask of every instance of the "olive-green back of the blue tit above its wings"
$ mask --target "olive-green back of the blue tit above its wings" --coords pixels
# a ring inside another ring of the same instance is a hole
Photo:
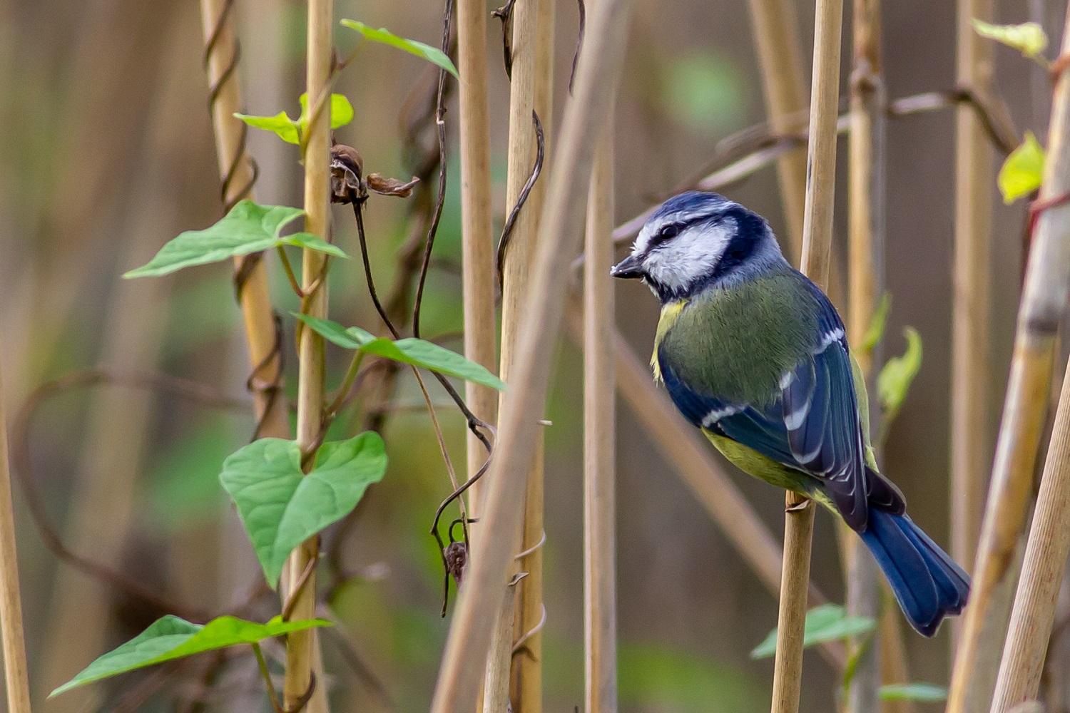
[[[814,345],[820,306],[784,269],[667,306],[655,353],[685,383],[734,403],[766,404]]]

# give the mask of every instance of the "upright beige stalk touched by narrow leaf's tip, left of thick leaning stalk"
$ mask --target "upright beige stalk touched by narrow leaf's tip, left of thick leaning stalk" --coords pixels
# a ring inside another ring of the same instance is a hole
[[[464,356],[493,369],[498,358],[494,319],[494,252],[491,235],[490,119],[487,98],[487,3],[457,1],[457,69],[460,74],[461,251],[464,292]],[[498,392],[465,383],[469,408],[487,423],[498,414]],[[475,474],[487,451],[468,435],[468,471]],[[482,512],[483,479],[469,490],[469,511]]]

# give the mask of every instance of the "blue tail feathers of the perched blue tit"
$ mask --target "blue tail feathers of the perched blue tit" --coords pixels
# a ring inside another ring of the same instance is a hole
[[[910,517],[870,508],[861,538],[918,632],[932,636],[944,617],[962,611],[969,577]]]

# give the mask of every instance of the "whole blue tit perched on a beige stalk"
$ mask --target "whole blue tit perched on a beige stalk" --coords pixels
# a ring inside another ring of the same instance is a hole
[[[682,193],[611,274],[660,298],[654,376],[725,458],[858,532],[921,634],[962,610],[966,573],[877,470],[840,315],[788,264],[764,218],[716,193]]]

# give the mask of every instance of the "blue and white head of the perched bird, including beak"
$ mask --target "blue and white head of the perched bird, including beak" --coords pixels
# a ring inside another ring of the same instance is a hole
[[[662,301],[746,279],[783,257],[765,218],[717,193],[670,198],[639,231],[613,277],[642,279]]]

